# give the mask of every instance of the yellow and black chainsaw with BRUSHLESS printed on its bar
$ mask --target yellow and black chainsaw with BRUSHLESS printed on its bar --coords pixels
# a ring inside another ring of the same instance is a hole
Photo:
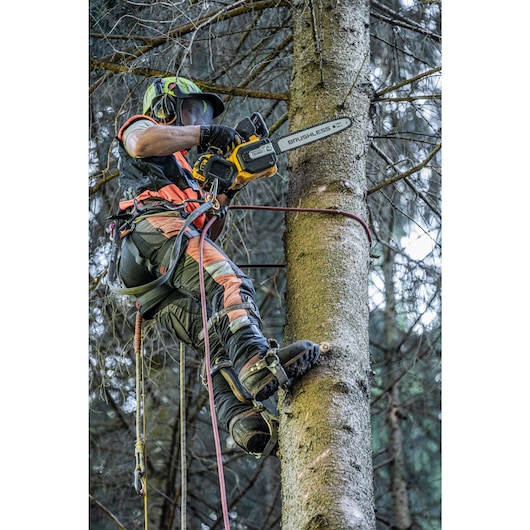
[[[226,156],[210,148],[193,165],[193,177],[210,185],[217,180],[218,193],[238,190],[253,180],[275,175],[278,155],[342,132],[351,124],[351,118],[337,118],[271,140],[265,120],[254,112],[235,127],[243,141]]]

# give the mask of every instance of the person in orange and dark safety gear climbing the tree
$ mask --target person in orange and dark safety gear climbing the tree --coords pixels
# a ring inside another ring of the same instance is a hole
[[[211,208],[201,210],[211,190],[193,178],[186,155],[193,147],[199,152],[215,147],[228,154],[239,144],[235,129],[212,125],[224,109],[218,95],[202,92],[186,78],[156,78],[146,90],[142,115],[121,127],[117,274],[144,319],[155,319],[204,355],[199,281],[203,252],[217,417],[239,447],[260,456],[270,446],[272,432],[256,403],[303,376],[317,362],[320,347],[303,340],[279,348],[267,340],[252,281],[214,243],[225,217]],[[221,211],[239,191],[213,189]],[[200,247],[202,229],[212,215],[217,220]]]

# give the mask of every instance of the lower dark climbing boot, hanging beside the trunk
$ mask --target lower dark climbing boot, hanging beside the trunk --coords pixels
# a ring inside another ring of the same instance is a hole
[[[228,432],[245,452],[256,457],[269,454],[276,456],[278,451],[276,429],[271,421],[265,421],[262,413],[257,410],[247,409],[236,414],[228,423]]]

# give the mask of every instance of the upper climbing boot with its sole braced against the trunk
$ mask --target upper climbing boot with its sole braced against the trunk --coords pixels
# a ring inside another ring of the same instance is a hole
[[[254,355],[239,370],[239,381],[258,401],[272,396],[279,386],[302,377],[320,356],[320,346],[308,340],[299,340],[280,349],[275,341],[269,343],[265,354]]]

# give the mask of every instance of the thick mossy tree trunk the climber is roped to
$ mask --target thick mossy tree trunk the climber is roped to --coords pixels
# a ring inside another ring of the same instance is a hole
[[[344,115],[353,126],[291,153],[288,205],[366,219],[368,2],[295,2],[292,18],[291,130]],[[289,213],[285,246],[286,343],[331,350],[280,396],[282,528],[373,529],[367,234],[351,218]]]

